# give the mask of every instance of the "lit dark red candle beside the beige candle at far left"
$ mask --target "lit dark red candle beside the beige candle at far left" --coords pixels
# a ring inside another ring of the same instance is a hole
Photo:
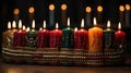
[[[22,21],[19,21],[19,31],[14,33],[14,47],[25,47],[26,32],[22,29]]]

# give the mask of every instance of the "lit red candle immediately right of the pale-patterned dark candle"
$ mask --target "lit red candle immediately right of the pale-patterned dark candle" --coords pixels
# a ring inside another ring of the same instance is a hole
[[[46,29],[46,21],[44,21],[44,29],[40,28],[37,33],[37,48],[49,47],[49,31]]]

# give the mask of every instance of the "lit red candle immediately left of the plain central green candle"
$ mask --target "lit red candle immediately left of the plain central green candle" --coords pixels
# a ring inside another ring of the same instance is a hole
[[[56,29],[50,31],[50,48],[60,49],[62,41],[62,31],[58,29],[58,23],[56,23]]]

